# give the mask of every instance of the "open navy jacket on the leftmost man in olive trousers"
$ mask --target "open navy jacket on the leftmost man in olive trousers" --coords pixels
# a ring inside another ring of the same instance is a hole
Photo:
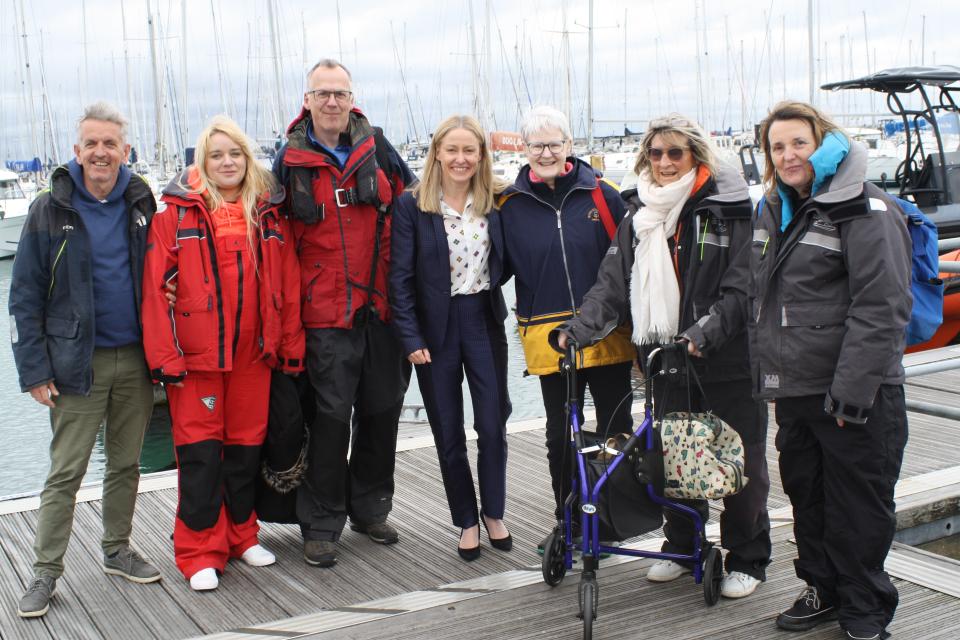
[[[17,245],[9,305],[22,391],[55,381],[61,393],[90,395],[96,335],[91,255],[97,248],[71,204],[74,188],[66,166],[57,167],[49,190],[30,205]],[[123,199],[139,313],[147,229],[157,203],[136,175]]]

